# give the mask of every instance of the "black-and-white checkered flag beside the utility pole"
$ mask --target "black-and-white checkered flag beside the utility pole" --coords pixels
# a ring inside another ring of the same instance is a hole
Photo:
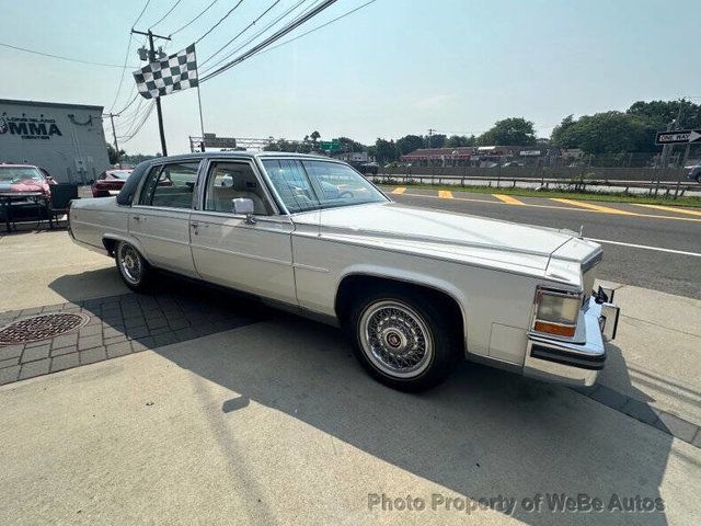
[[[134,80],[145,99],[154,99],[197,87],[195,44],[134,71]]]

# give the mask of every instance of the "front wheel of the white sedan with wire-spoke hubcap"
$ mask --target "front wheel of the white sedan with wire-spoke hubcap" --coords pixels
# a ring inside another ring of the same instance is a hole
[[[413,291],[371,293],[350,312],[356,357],[394,389],[421,391],[443,382],[460,357],[452,316]]]

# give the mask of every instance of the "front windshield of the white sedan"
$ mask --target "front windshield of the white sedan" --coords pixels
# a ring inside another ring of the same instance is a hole
[[[264,159],[263,165],[291,214],[388,201],[363,175],[338,162]]]

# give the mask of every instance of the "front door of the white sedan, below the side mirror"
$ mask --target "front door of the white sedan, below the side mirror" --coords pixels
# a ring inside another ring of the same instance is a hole
[[[195,268],[209,282],[297,304],[290,235],[256,165],[250,159],[207,162],[199,209],[191,215]],[[251,218],[232,211],[232,199],[253,201]]]

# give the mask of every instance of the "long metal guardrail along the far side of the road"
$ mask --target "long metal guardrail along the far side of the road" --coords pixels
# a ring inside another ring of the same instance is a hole
[[[674,198],[683,196],[687,191],[701,192],[701,185],[697,183],[682,183],[681,180],[677,181],[610,181],[610,180],[595,180],[595,179],[552,179],[552,178],[509,178],[503,175],[483,176],[483,175],[437,175],[437,174],[414,174],[414,173],[378,173],[366,174],[374,182],[379,183],[397,183],[397,184],[430,184],[430,185],[456,185],[456,186],[469,186],[470,182],[490,183],[487,186],[492,186],[491,183],[495,183],[494,187],[517,187],[517,183],[528,183],[536,185],[536,188],[550,190],[568,190],[575,192],[587,192],[593,187],[601,188],[604,186],[611,188],[622,188],[623,193],[629,193],[630,188],[646,188],[650,195],[657,196],[660,192],[664,195],[671,195]],[[482,184],[483,186],[484,184]]]

